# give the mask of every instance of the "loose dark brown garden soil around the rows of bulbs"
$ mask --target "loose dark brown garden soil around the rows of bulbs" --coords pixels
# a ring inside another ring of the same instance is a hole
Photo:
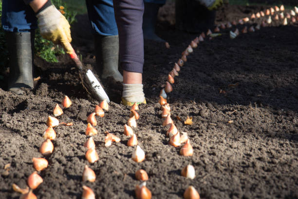
[[[168,40],[170,49],[145,42],[143,77],[148,104],[140,105],[135,133],[146,160],[136,163],[131,159],[134,147],[126,145],[128,138],[123,135],[130,108],[119,103],[121,83],[105,80],[112,102],[104,118],[97,118],[94,140],[99,160],[88,163],[83,147],[86,118],[98,102],[82,88],[70,60],[61,57],[60,63],[52,64],[37,58],[36,77],[41,79],[33,91],[24,89],[25,95],[16,96],[5,90],[5,84],[0,89],[1,199],[19,198],[12,183],[25,187],[34,171],[31,159],[42,157],[38,148],[46,119],[56,103],[61,106],[64,95],[73,105],[58,119],[74,125],[55,128],[54,153],[47,157],[49,167],[39,172],[43,183],[34,190],[38,199],[78,199],[82,185],[91,187],[96,198],[135,198],[139,182],[134,173],[141,168],[149,174],[147,186],[156,199],[183,198],[188,185],[203,199],[298,198],[298,24],[282,26],[281,20],[274,21],[234,40],[225,29],[221,37],[201,42],[187,56],[168,95],[172,119],[179,131],[188,133],[194,148],[192,157],[183,157],[180,147],[168,144],[158,96],[173,63],[198,34],[176,31],[173,20],[167,20],[173,16],[173,5],[167,6],[160,13],[157,33]],[[216,23],[238,20],[264,8],[225,6],[217,13]],[[88,20],[78,17],[74,45],[84,63],[93,67]],[[244,25],[237,27],[241,30]],[[193,125],[183,123],[187,116],[193,117]],[[121,142],[106,148],[105,131]],[[5,172],[7,163],[11,166]],[[86,164],[95,171],[95,182],[82,182]],[[195,179],[180,175],[187,164],[195,167]]]

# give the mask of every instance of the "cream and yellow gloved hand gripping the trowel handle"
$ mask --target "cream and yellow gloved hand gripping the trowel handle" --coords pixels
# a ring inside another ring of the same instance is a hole
[[[68,54],[73,53],[70,25],[54,5],[37,14],[40,35],[55,44],[61,44]]]

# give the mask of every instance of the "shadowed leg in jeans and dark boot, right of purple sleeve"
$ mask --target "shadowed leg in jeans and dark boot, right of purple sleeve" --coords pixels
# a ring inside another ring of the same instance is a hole
[[[166,42],[155,34],[158,10],[165,3],[166,0],[144,0],[145,11],[143,15],[143,33],[145,40]]]

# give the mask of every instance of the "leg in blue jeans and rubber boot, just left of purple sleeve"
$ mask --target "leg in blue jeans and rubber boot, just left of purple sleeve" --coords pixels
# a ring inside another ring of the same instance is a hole
[[[97,70],[101,78],[123,81],[118,71],[119,40],[112,0],[86,0],[94,34]]]

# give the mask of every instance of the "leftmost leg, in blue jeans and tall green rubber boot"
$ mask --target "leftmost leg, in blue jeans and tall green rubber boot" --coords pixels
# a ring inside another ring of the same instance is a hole
[[[23,0],[3,0],[2,27],[9,51],[8,90],[22,94],[19,88],[33,88],[35,13]]]

